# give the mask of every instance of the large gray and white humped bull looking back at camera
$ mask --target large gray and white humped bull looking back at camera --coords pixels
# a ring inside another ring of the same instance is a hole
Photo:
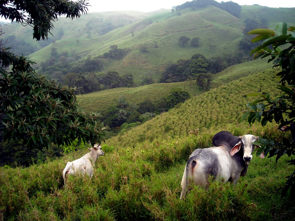
[[[236,184],[240,176],[247,173],[254,149],[252,143],[257,138],[251,134],[237,137],[230,132],[221,131],[212,139],[214,147],[196,149],[189,156],[183,173],[180,199],[191,186],[190,181],[206,188],[209,175],[214,180],[222,179],[223,182]],[[264,158],[263,154],[260,155],[261,158]]]

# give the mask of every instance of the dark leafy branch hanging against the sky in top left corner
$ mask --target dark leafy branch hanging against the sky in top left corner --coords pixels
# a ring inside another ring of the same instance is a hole
[[[12,22],[31,24],[33,26],[33,39],[48,39],[48,33],[53,29],[53,22],[61,15],[67,18],[78,18],[86,14],[88,2],[80,1],[1,1],[1,16]],[[42,9],[40,8],[42,6]]]

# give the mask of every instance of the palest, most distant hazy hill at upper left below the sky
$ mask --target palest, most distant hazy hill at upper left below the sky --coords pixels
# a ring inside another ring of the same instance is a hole
[[[29,25],[22,26],[22,24],[17,23],[6,23],[1,26],[2,33],[4,33],[1,37],[6,40],[9,36],[14,35],[16,39],[23,40],[37,51],[50,44],[53,40],[84,38],[87,42],[88,39],[86,38],[97,37],[112,29],[131,24],[147,16],[149,15],[140,11],[108,11],[88,13],[87,15],[81,15],[79,19],[73,20],[60,17],[58,21],[54,23],[55,28],[51,31],[53,36],[49,34],[48,40],[45,42],[36,42],[35,39],[32,38],[32,27]],[[16,42],[8,41],[6,47],[8,46],[12,46],[12,48],[18,52],[17,47],[19,47],[19,44],[16,44]],[[69,53],[71,50],[70,45],[68,48]],[[26,51],[21,52],[24,55],[28,55]],[[48,53],[50,55],[50,48]],[[43,57],[41,56],[40,60],[43,61],[42,59]]]

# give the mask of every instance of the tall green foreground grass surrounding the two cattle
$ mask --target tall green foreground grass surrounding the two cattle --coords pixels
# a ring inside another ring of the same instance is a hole
[[[291,218],[294,202],[280,199],[279,191],[294,169],[286,156],[278,163],[254,156],[236,186],[212,182],[207,191],[195,187],[179,200],[187,157],[196,147],[211,146],[214,133],[116,146],[96,161],[92,179],[69,176],[67,187],[61,175],[67,157],[29,168],[1,168],[0,211],[4,220]]]

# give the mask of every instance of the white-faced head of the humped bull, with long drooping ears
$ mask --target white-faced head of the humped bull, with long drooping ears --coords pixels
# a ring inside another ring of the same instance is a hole
[[[244,156],[243,159],[246,162],[246,165],[249,165],[249,162],[252,160],[252,152],[254,150],[255,142],[259,137],[251,134],[246,134],[244,136],[240,136],[240,142],[238,142],[230,151],[230,155],[234,156],[241,148],[243,148]],[[260,155],[261,158],[264,158],[264,153]]]

